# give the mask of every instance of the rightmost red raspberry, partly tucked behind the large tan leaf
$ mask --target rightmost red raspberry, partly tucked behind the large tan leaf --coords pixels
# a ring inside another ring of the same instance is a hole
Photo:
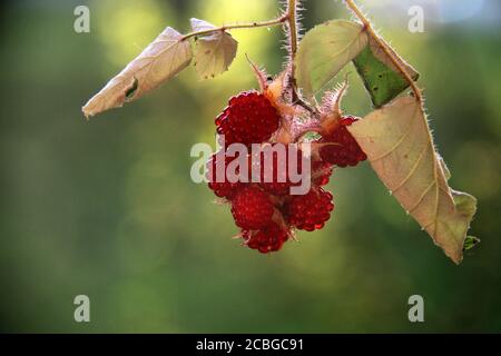
[[[324,146],[320,149],[323,160],[338,167],[356,166],[360,161],[366,160],[367,156],[353,138],[346,126],[355,122],[353,117],[341,119],[341,126],[332,134],[323,136],[318,141],[321,144],[335,144]]]

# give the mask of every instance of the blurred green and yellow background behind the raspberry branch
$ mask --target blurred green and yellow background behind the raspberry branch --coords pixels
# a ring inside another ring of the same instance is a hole
[[[334,172],[327,227],[263,256],[232,240],[229,209],[189,178],[190,147],[214,145],[214,118],[255,88],[244,53],[276,73],[278,28],[234,31],[230,71],[193,68],[86,121],[80,107],[166,26],[273,18],[275,0],[12,1],[0,8],[0,330],[138,333],[501,332],[500,2],[360,1],[420,72],[451,185],[479,199],[482,243],[454,266],[367,164]],[[466,3],[468,2],[468,3]],[[73,9],[90,8],[90,33]],[[307,0],[304,26],[350,18]],[[354,72],[351,67],[348,71]],[[370,110],[351,75],[350,113]],[[91,323],[73,320],[76,295]],[[407,320],[407,298],[425,323]]]

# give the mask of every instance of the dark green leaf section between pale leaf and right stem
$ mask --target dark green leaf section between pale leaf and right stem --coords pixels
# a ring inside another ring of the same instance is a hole
[[[353,63],[371,96],[373,106],[380,108],[409,88],[409,82],[374,39],[370,38],[369,43],[370,46],[353,60]],[[400,65],[407,70],[411,78],[416,80],[419,73],[390,47],[387,48],[392,51],[393,57],[399,59]]]

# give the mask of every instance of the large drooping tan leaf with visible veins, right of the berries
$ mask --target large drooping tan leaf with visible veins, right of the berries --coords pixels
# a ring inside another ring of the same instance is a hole
[[[399,98],[348,130],[403,208],[446,256],[461,263],[477,199],[449,187],[421,103]]]

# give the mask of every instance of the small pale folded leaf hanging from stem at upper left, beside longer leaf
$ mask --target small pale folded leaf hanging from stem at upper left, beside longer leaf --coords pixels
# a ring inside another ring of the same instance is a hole
[[[198,19],[191,19],[194,31],[214,29],[215,26]],[[202,79],[214,78],[228,70],[235,59],[238,42],[226,31],[198,37],[195,47],[195,68]]]

